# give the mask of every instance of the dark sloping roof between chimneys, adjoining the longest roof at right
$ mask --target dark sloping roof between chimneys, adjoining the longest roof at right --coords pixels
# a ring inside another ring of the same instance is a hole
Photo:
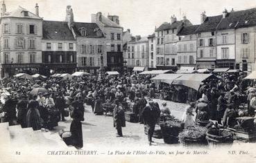
[[[197,28],[196,33],[215,31],[221,19],[222,15],[206,17],[205,21]]]

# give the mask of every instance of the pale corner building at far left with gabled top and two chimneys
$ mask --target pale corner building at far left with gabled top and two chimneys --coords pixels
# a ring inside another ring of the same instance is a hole
[[[12,12],[6,11],[2,3],[1,12],[1,77],[16,73],[38,73],[42,64],[42,18],[39,8],[35,13],[18,7]]]

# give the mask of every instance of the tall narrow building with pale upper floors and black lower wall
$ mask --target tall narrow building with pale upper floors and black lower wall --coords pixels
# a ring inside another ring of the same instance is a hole
[[[119,26],[119,17],[101,12],[92,15],[92,23],[96,23],[105,35],[107,52],[107,70],[123,72],[123,28]]]

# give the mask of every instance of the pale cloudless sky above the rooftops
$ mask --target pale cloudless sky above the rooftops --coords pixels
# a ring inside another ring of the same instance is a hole
[[[2,2],[2,1],[1,1]],[[71,5],[74,21],[91,22],[91,14],[118,15],[123,30],[130,29],[135,35],[151,35],[155,27],[170,22],[175,15],[178,20],[185,15],[192,24],[200,23],[200,14],[221,15],[226,8],[246,10],[256,8],[255,0],[5,0],[8,12],[22,6],[35,12],[38,3],[40,17],[44,20],[63,21],[66,7]]]

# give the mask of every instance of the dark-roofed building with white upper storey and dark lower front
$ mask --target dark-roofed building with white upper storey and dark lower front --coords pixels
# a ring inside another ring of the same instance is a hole
[[[42,27],[43,68],[54,70],[55,73],[74,73],[76,39],[67,21],[43,21]]]

